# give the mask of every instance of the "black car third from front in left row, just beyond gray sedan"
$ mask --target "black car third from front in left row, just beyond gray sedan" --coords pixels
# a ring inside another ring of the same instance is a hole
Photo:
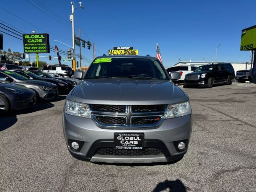
[[[14,71],[22,76],[25,76],[28,79],[34,79],[34,80],[40,80],[40,81],[44,81],[44,82],[53,83],[58,87],[59,95],[68,94],[68,84],[61,80],[54,79],[54,78],[43,78],[43,77],[40,77],[30,71],[23,71],[23,70],[18,70],[18,69],[11,70],[11,71]]]

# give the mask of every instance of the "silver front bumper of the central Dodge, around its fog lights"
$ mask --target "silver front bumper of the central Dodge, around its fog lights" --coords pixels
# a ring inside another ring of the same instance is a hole
[[[91,162],[106,163],[152,163],[167,162],[181,158],[188,149],[192,131],[192,115],[166,119],[157,127],[138,128],[106,128],[98,126],[94,120],[63,115],[63,132],[72,156]],[[144,148],[159,148],[162,154],[157,155],[102,155],[96,154],[100,148],[114,148],[114,133],[144,133]],[[80,142],[79,151],[70,148],[72,140]],[[184,141],[186,149],[179,151],[176,141]]]

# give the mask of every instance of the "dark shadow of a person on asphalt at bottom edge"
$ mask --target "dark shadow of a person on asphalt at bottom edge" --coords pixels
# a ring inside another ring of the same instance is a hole
[[[186,192],[186,187],[179,179],[175,181],[165,180],[164,182],[160,182],[153,192],[160,192],[167,189],[169,189],[170,192]]]

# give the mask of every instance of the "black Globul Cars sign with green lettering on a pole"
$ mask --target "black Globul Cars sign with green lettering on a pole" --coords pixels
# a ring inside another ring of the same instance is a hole
[[[50,53],[49,34],[23,34],[24,53]]]

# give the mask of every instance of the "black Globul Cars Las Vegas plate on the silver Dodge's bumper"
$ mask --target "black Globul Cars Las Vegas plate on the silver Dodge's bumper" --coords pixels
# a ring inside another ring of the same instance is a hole
[[[142,150],[144,148],[143,133],[114,133],[115,149]]]

